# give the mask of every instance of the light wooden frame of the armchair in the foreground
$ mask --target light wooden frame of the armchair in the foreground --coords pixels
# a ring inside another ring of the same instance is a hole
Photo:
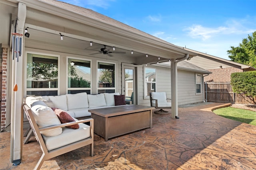
[[[30,127],[32,128],[34,135],[36,136],[36,139],[38,140],[38,142],[40,143],[40,147],[42,149],[42,156],[40,158],[40,160],[38,161],[38,163],[36,164],[36,167],[34,168],[35,170],[39,170],[42,166],[42,164],[44,163],[45,160],[48,160],[50,158],[54,158],[56,156],[59,156],[61,154],[70,152],[72,150],[76,150],[78,148],[84,147],[86,145],[90,145],[90,156],[93,156],[93,135],[94,135],[94,121],[93,119],[84,119],[84,120],[79,120],[79,121],[73,121],[73,122],[69,122],[69,123],[62,123],[60,125],[53,125],[53,126],[48,126],[48,127],[43,127],[43,128],[38,128],[38,125],[36,124],[36,121],[33,117],[32,111],[30,109],[30,107],[28,107],[26,104],[23,105],[23,109],[24,112],[26,113],[26,116],[28,117],[28,121],[30,123]],[[46,145],[44,143],[44,139],[40,133],[40,131],[45,131],[45,130],[49,130],[49,129],[54,129],[57,127],[65,127],[65,126],[69,126],[69,125],[75,125],[78,123],[85,123],[85,122],[90,122],[90,137],[83,139],[81,141],[77,141],[74,143],[71,143],[69,145],[57,148],[57,149],[53,149],[48,151],[46,148]]]

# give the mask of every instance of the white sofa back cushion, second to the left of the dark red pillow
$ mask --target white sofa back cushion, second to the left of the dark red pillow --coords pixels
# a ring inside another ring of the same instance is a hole
[[[96,95],[88,94],[87,97],[89,108],[106,106],[106,101],[103,93]]]

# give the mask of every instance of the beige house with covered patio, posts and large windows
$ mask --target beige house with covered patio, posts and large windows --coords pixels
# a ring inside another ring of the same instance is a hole
[[[0,14],[1,130],[11,130],[12,161],[21,159],[26,96],[132,91],[134,104],[150,106],[154,90],[172,98],[172,117],[178,104],[204,100],[203,75],[210,72],[185,61],[197,53],[55,0],[2,0]]]

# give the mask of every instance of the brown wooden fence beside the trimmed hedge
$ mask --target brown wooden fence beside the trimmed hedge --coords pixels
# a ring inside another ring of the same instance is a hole
[[[204,85],[205,99],[207,102],[255,104],[252,97],[234,93],[230,83],[207,82]]]

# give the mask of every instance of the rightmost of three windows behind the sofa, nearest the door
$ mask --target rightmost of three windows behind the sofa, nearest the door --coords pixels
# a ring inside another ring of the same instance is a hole
[[[115,64],[98,62],[98,93],[114,93],[116,91]]]

